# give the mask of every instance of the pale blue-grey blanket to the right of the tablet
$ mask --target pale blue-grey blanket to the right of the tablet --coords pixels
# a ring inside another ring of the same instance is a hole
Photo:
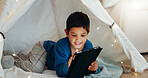
[[[114,61],[106,58],[97,58],[102,71],[98,74],[90,74],[84,78],[120,78],[123,73],[122,67]]]

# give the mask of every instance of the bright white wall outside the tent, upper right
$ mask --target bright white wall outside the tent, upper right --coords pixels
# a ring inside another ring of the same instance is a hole
[[[106,10],[140,51],[148,52],[148,0],[121,0]]]

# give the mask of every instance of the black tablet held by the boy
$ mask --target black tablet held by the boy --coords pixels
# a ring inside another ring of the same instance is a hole
[[[101,50],[102,48],[97,46],[75,53],[66,78],[83,78],[84,75],[89,75],[91,71],[88,67],[96,60]]]

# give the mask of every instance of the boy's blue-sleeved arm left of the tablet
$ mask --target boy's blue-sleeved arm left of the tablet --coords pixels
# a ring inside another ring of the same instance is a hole
[[[70,52],[67,52],[68,47],[63,48],[60,44],[56,44],[55,50],[55,69],[59,77],[65,77],[68,72],[68,60]]]

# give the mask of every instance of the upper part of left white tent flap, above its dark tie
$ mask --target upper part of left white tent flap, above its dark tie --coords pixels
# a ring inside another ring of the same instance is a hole
[[[34,0],[6,1],[0,18],[0,31],[6,33],[15,22],[31,7]]]

